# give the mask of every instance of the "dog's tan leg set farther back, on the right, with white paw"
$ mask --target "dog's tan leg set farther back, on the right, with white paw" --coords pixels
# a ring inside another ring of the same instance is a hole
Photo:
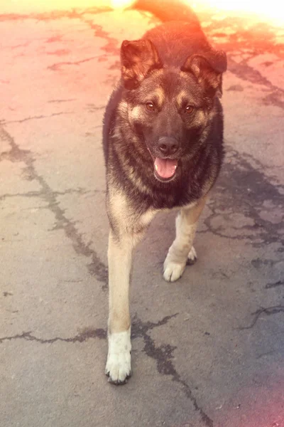
[[[163,268],[163,278],[167,282],[178,280],[185,270],[187,263],[194,263],[197,255],[192,246],[197,229],[197,221],[204,208],[206,198],[199,200],[191,208],[180,210],[176,220],[176,236],[172,246],[168,250]]]

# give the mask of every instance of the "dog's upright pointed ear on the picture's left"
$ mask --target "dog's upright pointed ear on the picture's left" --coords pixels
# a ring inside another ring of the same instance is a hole
[[[133,89],[154,68],[162,68],[158,52],[150,40],[125,40],[121,45],[121,76],[126,89]]]

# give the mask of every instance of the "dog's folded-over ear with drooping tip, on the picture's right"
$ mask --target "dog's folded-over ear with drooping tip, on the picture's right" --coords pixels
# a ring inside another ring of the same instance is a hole
[[[198,83],[202,84],[212,95],[222,96],[222,73],[226,71],[226,53],[213,49],[187,58],[182,65],[182,71],[195,75]]]

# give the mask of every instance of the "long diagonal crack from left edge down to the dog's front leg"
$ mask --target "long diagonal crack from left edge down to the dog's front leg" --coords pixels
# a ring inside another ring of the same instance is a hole
[[[79,255],[84,255],[87,258],[92,258],[92,262],[87,265],[89,273],[94,275],[99,282],[104,283],[102,289],[107,289],[108,283],[108,272],[107,266],[102,263],[99,259],[97,253],[90,247],[92,242],[84,243],[82,239],[82,233],[79,233],[75,228],[74,222],[70,221],[65,216],[65,210],[61,209],[59,202],[56,199],[55,192],[50,188],[48,183],[43,179],[43,176],[40,176],[34,167],[34,159],[29,150],[23,150],[18,147],[13,138],[9,135],[3,127],[0,127],[0,137],[6,142],[9,142],[11,146],[11,151],[7,154],[7,157],[14,162],[24,162],[26,164],[26,172],[30,176],[31,180],[35,180],[40,184],[41,191],[40,195],[44,201],[47,202],[47,209],[53,212],[55,216],[55,226],[53,230],[63,230],[65,236],[72,241],[72,246],[75,249],[75,252]]]

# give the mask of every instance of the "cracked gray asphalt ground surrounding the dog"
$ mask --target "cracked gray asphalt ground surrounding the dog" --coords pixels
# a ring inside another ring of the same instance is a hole
[[[284,426],[284,32],[200,19],[229,58],[226,162],[178,283],[161,275],[173,214],[136,251],[133,376],[115,387],[102,115],[121,41],[157,21],[0,15],[1,427]]]

